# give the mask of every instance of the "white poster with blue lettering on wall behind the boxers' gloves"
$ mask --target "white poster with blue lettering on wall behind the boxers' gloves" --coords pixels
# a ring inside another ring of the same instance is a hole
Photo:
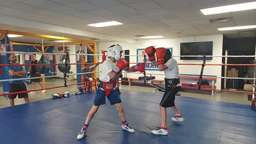
[[[166,49],[169,49],[171,51],[171,53],[172,53],[172,47],[166,47]],[[145,55],[145,54],[146,54],[145,49],[137,49],[137,55]],[[155,56],[156,56],[156,54],[155,54]],[[138,56],[137,57],[137,63],[138,62],[144,62],[144,57]],[[150,62],[148,60],[148,55],[147,54],[146,54],[146,62]],[[146,64],[146,68],[145,69],[146,70],[158,70],[158,66],[153,66],[151,64]]]

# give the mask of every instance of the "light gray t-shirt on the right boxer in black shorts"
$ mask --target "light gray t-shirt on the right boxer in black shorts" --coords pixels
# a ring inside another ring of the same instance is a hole
[[[166,78],[179,78],[178,63],[174,58],[169,59],[164,65],[168,67],[164,70]],[[181,86],[181,83],[177,84],[177,86]]]

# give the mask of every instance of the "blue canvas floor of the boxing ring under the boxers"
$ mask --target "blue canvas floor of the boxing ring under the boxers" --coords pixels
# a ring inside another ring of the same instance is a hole
[[[46,99],[0,109],[1,143],[254,143],[256,111],[248,105],[177,97],[186,121],[172,122],[167,110],[169,134],[150,133],[159,124],[162,94],[122,90],[127,120],[136,130],[122,130],[115,107],[100,107],[84,139],[76,136],[93,103],[91,94],[66,99]],[[85,97],[86,95],[86,97]],[[125,95],[125,96],[123,96]],[[186,96],[186,95],[185,95]],[[14,135],[15,138],[12,138]]]

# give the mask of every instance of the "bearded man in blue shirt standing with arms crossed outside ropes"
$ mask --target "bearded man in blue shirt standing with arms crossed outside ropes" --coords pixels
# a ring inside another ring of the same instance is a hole
[[[9,55],[10,64],[14,66],[5,66],[5,71],[9,75],[9,79],[17,79],[22,78],[22,75],[26,75],[26,70],[21,66],[15,66],[18,63],[17,57],[15,54],[11,53]],[[9,93],[27,91],[27,87],[22,80],[17,81],[9,81]],[[17,94],[9,94],[9,104],[10,106],[14,106],[14,99],[17,97]],[[28,99],[28,93],[19,93],[18,98],[24,98],[25,102],[30,102]]]

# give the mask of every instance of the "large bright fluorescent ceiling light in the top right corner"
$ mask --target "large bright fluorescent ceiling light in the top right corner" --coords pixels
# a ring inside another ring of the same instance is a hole
[[[227,12],[237,12],[256,9],[256,2],[233,4],[219,7],[212,7],[209,9],[200,10],[204,15],[227,13]]]

